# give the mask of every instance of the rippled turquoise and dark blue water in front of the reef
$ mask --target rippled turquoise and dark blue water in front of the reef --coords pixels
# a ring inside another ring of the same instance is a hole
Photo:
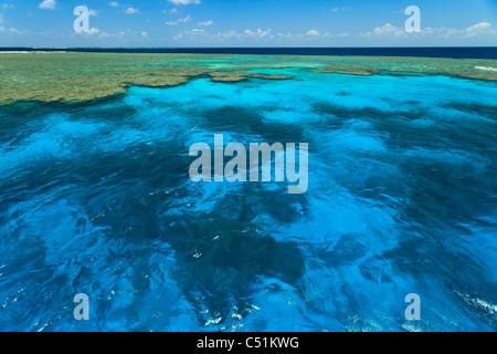
[[[266,73],[0,107],[0,330],[497,330],[496,83]],[[192,183],[221,133],[308,143],[307,192]]]

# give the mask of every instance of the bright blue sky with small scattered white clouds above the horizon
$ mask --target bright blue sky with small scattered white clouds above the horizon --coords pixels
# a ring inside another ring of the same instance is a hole
[[[405,31],[409,6],[421,32]],[[0,46],[458,45],[497,46],[497,0],[0,0]]]

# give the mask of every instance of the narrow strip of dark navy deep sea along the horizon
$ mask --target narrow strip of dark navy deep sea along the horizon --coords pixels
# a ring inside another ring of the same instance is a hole
[[[416,46],[416,48],[4,48],[4,51],[61,51],[105,53],[198,53],[269,55],[367,55],[425,56],[453,59],[497,59],[497,46]]]

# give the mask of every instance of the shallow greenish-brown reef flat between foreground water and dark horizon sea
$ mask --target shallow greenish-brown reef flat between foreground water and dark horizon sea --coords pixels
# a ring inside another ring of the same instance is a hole
[[[441,74],[497,81],[497,60],[400,56],[299,56],[129,53],[1,53],[0,103],[82,102],[123,93],[129,86],[178,86],[205,75],[215,82],[250,77],[288,80],[264,73],[304,67],[351,75]],[[260,71],[260,72],[257,72]]]

